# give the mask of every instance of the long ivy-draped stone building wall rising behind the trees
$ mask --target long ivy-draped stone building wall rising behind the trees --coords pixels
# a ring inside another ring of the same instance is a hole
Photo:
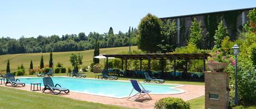
[[[213,36],[217,29],[218,23],[223,20],[224,25],[228,28],[228,34],[231,40],[236,40],[239,33],[243,30],[243,25],[248,21],[248,12],[254,8],[236,9],[227,11],[207,12],[202,14],[182,15],[174,17],[164,17],[161,20],[171,20],[176,22],[178,27],[176,32],[177,46],[186,46],[189,39],[190,26],[194,18],[197,18],[198,22],[201,22],[201,28],[205,43],[203,48],[212,48],[214,46]]]

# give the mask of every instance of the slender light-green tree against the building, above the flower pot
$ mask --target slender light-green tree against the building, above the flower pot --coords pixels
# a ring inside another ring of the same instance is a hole
[[[227,27],[224,26],[223,22],[219,22],[218,28],[213,36],[215,39],[215,48],[221,48],[222,40],[228,35]]]

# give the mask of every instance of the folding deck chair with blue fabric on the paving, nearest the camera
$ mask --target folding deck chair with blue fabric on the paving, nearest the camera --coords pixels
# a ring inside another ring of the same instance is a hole
[[[132,100],[132,101],[136,101],[136,100],[139,100],[140,98],[146,98],[146,99],[150,99],[152,100],[150,94],[151,91],[147,91],[141,84],[138,80],[130,80],[130,82],[132,83],[133,85],[133,89],[132,89],[132,92],[130,92],[130,95],[129,97],[127,98],[127,100]],[[142,89],[140,88],[140,86],[142,87]],[[131,94],[133,93],[133,90],[135,89],[135,91],[137,91],[138,93],[136,93],[135,95],[131,96]],[[139,96],[138,96],[139,94]],[[138,97],[136,97],[136,95]],[[148,95],[148,97],[144,97],[144,95]]]

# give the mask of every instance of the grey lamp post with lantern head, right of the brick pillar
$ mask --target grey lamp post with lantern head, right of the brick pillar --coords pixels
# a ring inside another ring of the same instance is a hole
[[[236,61],[236,65],[235,65],[235,100],[234,100],[234,105],[237,105],[238,103],[238,92],[237,92],[237,55],[239,54],[239,46],[237,46],[237,44],[235,44],[233,47],[233,52],[235,55],[235,61]]]

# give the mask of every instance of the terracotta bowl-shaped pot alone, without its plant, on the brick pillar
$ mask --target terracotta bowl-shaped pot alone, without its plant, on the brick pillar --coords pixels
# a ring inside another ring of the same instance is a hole
[[[229,65],[228,62],[206,62],[207,67],[212,72],[222,72],[224,69],[226,69]]]

